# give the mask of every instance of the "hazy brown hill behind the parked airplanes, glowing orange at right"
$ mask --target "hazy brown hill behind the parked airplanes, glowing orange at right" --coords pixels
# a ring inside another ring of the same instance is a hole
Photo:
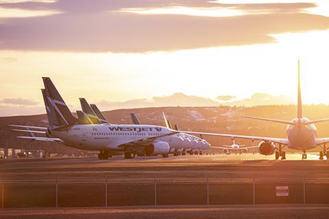
[[[296,107],[289,106],[253,106],[253,107],[154,107],[130,108],[114,111],[105,111],[103,114],[112,124],[131,124],[130,113],[135,113],[143,124],[162,126],[164,112],[171,124],[177,124],[180,130],[193,130],[202,132],[219,132],[236,135],[256,135],[265,137],[286,137],[287,126],[272,122],[262,122],[241,118],[241,115],[269,117],[276,119],[293,119]],[[329,106],[306,105],[304,115],[309,119],[329,117]],[[50,153],[80,154],[80,150],[60,146],[56,143],[33,142],[17,139],[21,134],[12,131],[9,124],[47,126],[46,115],[30,115],[15,117],[0,117],[0,148],[43,149]],[[317,124],[319,137],[329,136],[329,122]],[[25,135],[24,133],[22,135]],[[220,137],[205,137],[213,146],[230,144],[231,140]],[[256,145],[247,140],[236,140],[237,143]]]

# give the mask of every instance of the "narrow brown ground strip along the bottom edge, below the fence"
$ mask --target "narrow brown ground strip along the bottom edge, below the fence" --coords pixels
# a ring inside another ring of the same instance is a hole
[[[125,207],[125,208],[70,208],[70,209],[5,209],[0,211],[1,219],[137,219],[137,218],[329,218],[329,206],[313,205],[221,205],[210,207]]]

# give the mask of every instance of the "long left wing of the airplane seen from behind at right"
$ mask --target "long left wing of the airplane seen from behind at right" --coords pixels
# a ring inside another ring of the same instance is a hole
[[[186,131],[179,131],[186,134],[191,135],[209,135],[209,136],[217,136],[217,137],[229,137],[231,139],[250,139],[252,141],[270,141],[273,143],[280,143],[283,145],[288,144],[288,139],[280,139],[280,138],[273,138],[273,137],[258,137],[258,136],[247,136],[247,135],[228,135],[228,134],[219,134],[219,133],[208,133],[208,132],[186,132]]]

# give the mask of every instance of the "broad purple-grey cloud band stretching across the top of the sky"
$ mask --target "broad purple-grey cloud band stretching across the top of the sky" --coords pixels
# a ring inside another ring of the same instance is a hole
[[[209,17],[120,12],[124,8],[173,5],[257,10],[259,14]],[[5,19],[0,24],[1,49],[117,53],[173,51],[276,43],[271,34],[329,28],[328,17],[302,13],[304,8],[315,7],[312,3],[234,5],[206,0],[59,0],[53,3],[0,3],[0,7],[62,12],[42,17]]]

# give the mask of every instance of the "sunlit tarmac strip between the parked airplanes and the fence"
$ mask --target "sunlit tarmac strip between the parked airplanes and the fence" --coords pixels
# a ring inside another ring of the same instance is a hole
[[[301,154],[287,154],[287,160],[276,161],[273,156],[260,154],[186,155],[169,158],[136,157],[108,160],[75,159],[3,159],[0,176],[5,181],[41,178],[210,178],[216,179],[276,179],[328,180],[329,161],[319,161],[317,154],[302,160]]]

